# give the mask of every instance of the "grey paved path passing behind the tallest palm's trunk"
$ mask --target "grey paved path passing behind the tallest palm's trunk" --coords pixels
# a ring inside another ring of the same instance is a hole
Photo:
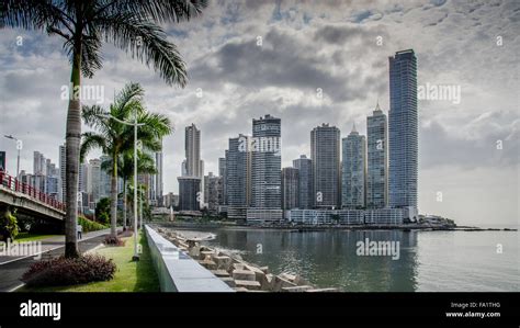
[[[110,234],[110,229],[103,229],[83,234],[83,238],[78,240],[79,250],[86,252],[103,242],[104,237]],[[65,236],[58,236],[42,241],[42,259],[49,259],[64,255]],[[0,257],[0,292],[11,292],[23,283],[20,281],[29,267],[37,262],[37,253],[26,257]]]

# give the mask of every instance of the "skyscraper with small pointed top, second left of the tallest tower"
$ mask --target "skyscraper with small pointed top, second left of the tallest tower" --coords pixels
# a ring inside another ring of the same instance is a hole
[[[342,172],[341,172],[341,206],[346,208],[364,208],[366,140],[352,126],[352,132],[342,139]]]

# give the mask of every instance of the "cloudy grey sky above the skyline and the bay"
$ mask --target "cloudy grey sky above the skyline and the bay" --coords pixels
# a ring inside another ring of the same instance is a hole
[[[420,212],[518,224],[519,1],[211,1],[203,16],[163,27],[188,64],[186,88],[167,87],[111,45],[83,83],[103,86],[108,105],[114,90],[140,82],[148,109],[174,123],[163,144],[165,192],[178,190],[191,123],[202,129],[206,172],[217,172],[229,137],[251,134],[251,118],[268,113],[282,118],[283,166],[309,156],[309,132],[324,122],[342,137],[354,122],[365,134],[377,100],[388,110],[388,56],[412,48],[419,86],[461,88],[460,103],[419,101]],[[57,162],[69,76],[58,37],[1,32],[0,133],[24,140],[21,169],[32,171],[34,150]],[[14,172],[14,144],[1,138],[0,149]]]

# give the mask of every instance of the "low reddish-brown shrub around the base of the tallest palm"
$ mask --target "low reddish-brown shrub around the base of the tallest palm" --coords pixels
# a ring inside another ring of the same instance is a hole
[[[115,263],[102,256],[59,257],[32,264],[22,281],[29,286],[58,286],[108,281],[114,278]]]

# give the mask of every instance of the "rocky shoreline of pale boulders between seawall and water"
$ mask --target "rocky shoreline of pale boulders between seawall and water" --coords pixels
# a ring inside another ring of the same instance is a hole
[[[185,236],[162,227],[156,230],[237,292],[338,292],[337,289],[317,289],[298,275],[273,274],[268,267],[257,267],[237,255],[201,245],[207,236]]]

